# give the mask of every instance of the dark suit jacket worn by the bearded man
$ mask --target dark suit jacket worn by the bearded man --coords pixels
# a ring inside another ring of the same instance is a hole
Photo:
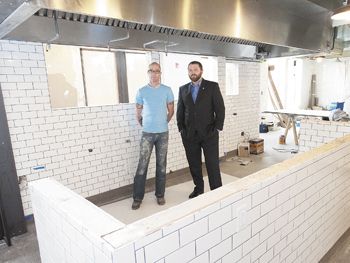
[[[197,131],[203,138],[222,130],[225,105],[218,83],[202,79],[196,103],[191,95],[191,83],[180,87],[177,104],[177,126],[186,138]]]

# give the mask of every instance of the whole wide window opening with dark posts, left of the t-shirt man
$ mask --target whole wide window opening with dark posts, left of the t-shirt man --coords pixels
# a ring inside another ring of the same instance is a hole
[[[150,53],[50,45],[45,60],[52,108],[134,103],[148,83]]]

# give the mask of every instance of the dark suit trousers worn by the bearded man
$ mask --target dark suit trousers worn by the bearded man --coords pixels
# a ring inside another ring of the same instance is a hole
[[[198,133],[193,138],[182,135],[182,143],[185,147],[186,157],[190,167],[195,191],[204,191],[202,174],[202,150],[205,158],[205,166],[208,172],[210,190],[222,186],[219,167],[219,132],[215,131],[211,136],[201,138]]]

